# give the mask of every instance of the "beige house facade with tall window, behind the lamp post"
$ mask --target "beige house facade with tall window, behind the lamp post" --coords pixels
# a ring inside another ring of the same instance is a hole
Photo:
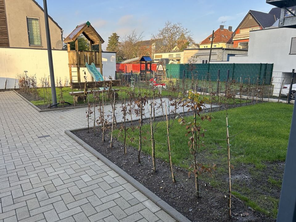
[[[34,0],[0,0],[0,47],[47,49],[44,11]],[[51,48],[62,49],[62,28],[48,16]],[[7,39],[7,40],[6,40]]]

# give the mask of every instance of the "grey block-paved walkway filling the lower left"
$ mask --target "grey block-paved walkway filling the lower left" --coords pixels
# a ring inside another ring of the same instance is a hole
[[[0,222],[175,221],[64,133],[87,126],[85,111],[38,113],[0,92]]]

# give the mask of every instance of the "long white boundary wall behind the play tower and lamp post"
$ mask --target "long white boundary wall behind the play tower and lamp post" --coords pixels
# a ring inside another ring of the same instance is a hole
[[[69,79],[68,52],[64,50],[52,50],[52,59],[55,79],[58,78],[64,82]],[[115,78],[116,71],[116,53],[103,52],[103,75],[106,79],[109,76]],[[74,71],[76,68],[72,68]],[[47,50],[42,49],[23,49],[23,48],[0,48],[0,89],[14,88],[15,79],[24,71],[28,71],[28,76],[36,75],[38,86],[41,86],[40,79],[44,76],[49,77],[49,66]],[[87,69],[80,68],[81,81],[83,80],[83,70],[86,71],[87,80],[90,81],[90,74]],[[76,70],[75,70],[76,71]],[[75,75],[74,73],[72,75]],[[18,83],[16,83],[18,88]]]

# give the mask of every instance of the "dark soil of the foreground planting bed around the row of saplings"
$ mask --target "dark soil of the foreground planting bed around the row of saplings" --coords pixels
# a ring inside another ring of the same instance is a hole
[[[146,122],[148,120],[145,120]],[[152,158],[148,154],[141,154],[141,164],[138,163],[138,150],[127,147],[127,155],[124,155],[123,144],[113,138],[113,148],[110,149],[109,132],[105,134],[105,142],[102,142],[101,130],[97,128],[97,134],[87,133],[87,130],[73,132],[84,142],[92,146],[118,167],[131,175],[138,182],[154,192],[177,211],[182,213],[192,222],[203,221],[257,221],[274,222],[260,212],[246,207],[242,201],[232,196],[232,218],[228,220],[227,193],[218,191],[209,183],[199,180],[201,198],[195,195],[194,178],[188,178],[186,170],[174,167],[177,182],[172,183],[170,168],[167,162],[156,159],[157,172],[152,170]],[[245,179],[246,169],[241,167],[234,174],[237,179]],[[227,181],[227,180],[226,180]],[[266,183],[266,180],[265,180]]]

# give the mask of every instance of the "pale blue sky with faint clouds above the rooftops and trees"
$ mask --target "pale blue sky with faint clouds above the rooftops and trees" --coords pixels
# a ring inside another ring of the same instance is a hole
[[[36,0],[43,7],[43,0]],[[112,32],[119,36],[136,29],[143,32],[143,40],[151,38],[166,21],[182,23],[199,43],[222,24],[238,26],[249,10],[269,12],[265,0],[48,0],[48,14],[64,30],[66,37],[77,25],[89,21],[105,40]]]

